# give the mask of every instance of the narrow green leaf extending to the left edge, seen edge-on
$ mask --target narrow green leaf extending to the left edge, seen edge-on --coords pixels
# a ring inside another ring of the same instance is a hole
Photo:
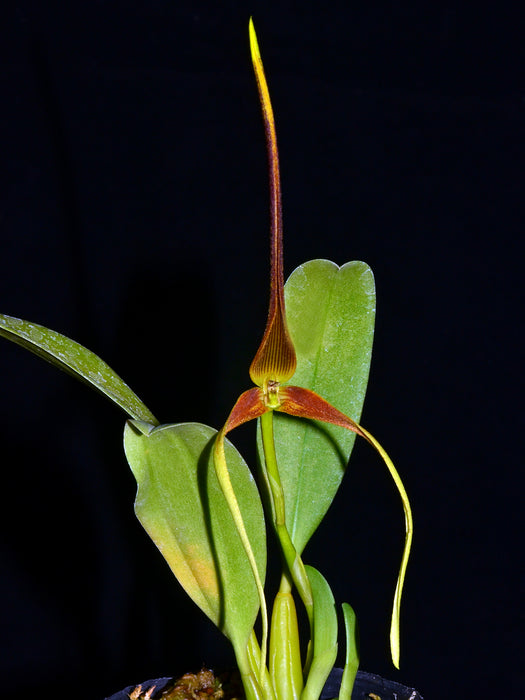
[[[44,326],[5,314],[0,314],[0,336],[89,384],[132,418],[158,424],[147,406],[111,367],[83,345]]]

